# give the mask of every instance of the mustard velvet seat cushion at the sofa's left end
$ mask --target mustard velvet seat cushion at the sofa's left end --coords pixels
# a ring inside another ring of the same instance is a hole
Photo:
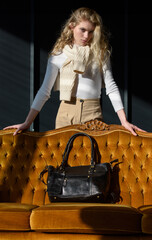
[[[0,230],[29,231],[30,214],[35,207],[21,203],[0,203]]]

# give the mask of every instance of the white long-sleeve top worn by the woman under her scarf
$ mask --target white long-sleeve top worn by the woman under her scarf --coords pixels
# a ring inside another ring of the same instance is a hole
[[[43,83],[37,92],[31,108],[40,111],[45,102],[50,98],[51,90],[59,76],[60,69],[67,56],[64,53],[51,56],[48,59],[47,69]],[[114,110],[123,109],[120,92],[114,81],[110,63],[103,66],[103,78],[106,94],[109,96]],[[101,97],[102,76],[98,69],[92,73],[88,67],[84,74],[78,74],[76,97],[80,99],[97,99]]]

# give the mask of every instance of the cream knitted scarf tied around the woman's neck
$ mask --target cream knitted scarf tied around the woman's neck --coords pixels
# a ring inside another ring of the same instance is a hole
[[[89,46],[66,45],[63,53],[67,56],[60,69],[60,100],[70,101],[78,74],[83,74],[88,63]]]

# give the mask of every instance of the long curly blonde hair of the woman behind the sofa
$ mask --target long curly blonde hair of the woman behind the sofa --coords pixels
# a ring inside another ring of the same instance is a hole
[[[70,26],[72,24],[72,26],[75,27],[83,20],[90,21],[95,26],[93,38],[90,42],[90,50],[92,53],[91,61],[95,61],[102,70],[103,64],[110,56],[110,48],[101,17],[96,11],[90,8],[78,8],[71,14],[70,18],[62,27],[60,37],[57,39],[49,56],[61,53],[65,45],[72,47],[73,31]]]

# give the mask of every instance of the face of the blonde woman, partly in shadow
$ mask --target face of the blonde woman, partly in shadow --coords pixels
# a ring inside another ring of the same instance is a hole
[[[75,27],[71,27],[71,29],[73,31],[74,44],[86,46],[93,37],[95,26],[87,20],[82,20]]]

